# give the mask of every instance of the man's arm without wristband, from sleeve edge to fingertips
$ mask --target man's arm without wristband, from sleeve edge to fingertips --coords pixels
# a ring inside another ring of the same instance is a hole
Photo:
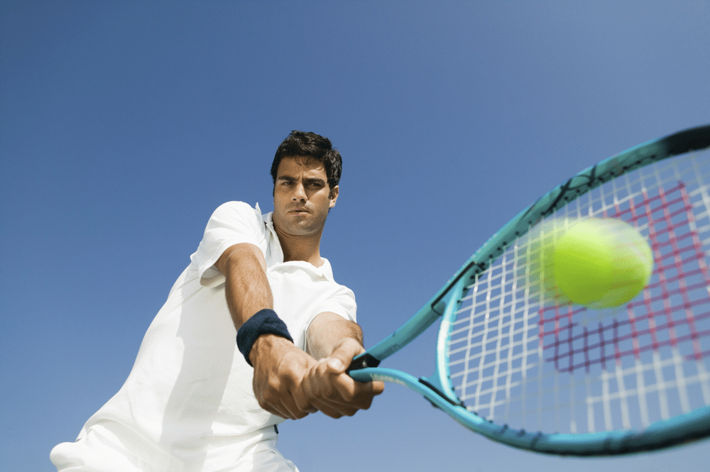
[[[356,382],[345,369],[365,351],[362,330],[338,314],[318,314],[307,331],[307,349],[319,362],[303,379],[300,389],[309,404],[325,415],[339,418],[367,410],[373,397],[383,392],[381,381]]]

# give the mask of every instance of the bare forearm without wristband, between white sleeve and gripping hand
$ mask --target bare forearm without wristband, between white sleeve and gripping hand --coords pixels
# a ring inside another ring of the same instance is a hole
[[[326,358],[346,339],[354,339],[362,346],[360,326],[335,313],[324,312],[318,314],[308,328],[307,351],[316,359]]]

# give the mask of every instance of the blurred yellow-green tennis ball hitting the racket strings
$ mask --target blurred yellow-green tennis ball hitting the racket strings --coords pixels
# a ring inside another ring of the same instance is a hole
[[[611,308],[643,290],[653,271],[653,253],[624,221],[580,219],[556,238],[552,265],[555,284],[569,300]]]

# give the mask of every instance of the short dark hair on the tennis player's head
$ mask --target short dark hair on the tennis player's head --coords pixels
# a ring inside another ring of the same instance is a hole
[[[325,168],[325,175],[328,177],[328,187],[330,187],[331,192],[340,182],[343,160],[338,150],[333,148],[330,140],[316,133],[291,131],[283,140],[283,143],[278,146],[271,164],[271,178],[274,185],[276,185],[276,172],[281,160],[295,156],[314,158],[322,163]]]

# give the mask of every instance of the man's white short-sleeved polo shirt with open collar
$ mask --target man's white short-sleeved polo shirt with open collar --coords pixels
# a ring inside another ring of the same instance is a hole
[[[261,215],[258,204],[256,209],[242,202],[222,204],[148,328],[126,383],[89,419],[77,441],[101,425],[124,445],[150,456],[189,461],[191,456],[204,458],[215,445],[283,421],[256,401],[253,368],[236,348],[224,275],[214,267],[224,250],[237,243],[252,243],[263,252],[275,312],[296,346],[306,350],[307,328],[319,313],[355,321],[354,294],[334,281],[327,260],[320,268],[283,262],[271,213]],[[62,454],[70,453],[69,444],[60,446]]]

